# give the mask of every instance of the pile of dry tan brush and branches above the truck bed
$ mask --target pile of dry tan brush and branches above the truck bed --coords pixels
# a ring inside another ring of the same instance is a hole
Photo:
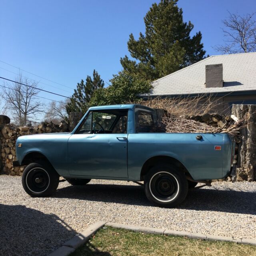
[[[170,133],[229,133],[237,135],[243,120],[234,120],[228,114],[216,113],[218,100],[210,98],[152,99],[138,102],[150,108],[164,109],[165,113],[158,119],[161,132]],[[228,110],[222,110],[227,113]]]

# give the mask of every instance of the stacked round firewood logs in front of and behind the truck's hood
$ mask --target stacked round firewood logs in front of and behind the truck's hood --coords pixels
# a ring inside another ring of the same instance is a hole
[[[14,167],[12,165],[12,161],[16,160],[16,140],[19,136],[67,131],[68,125],[65,121],[62,121],[60,125],[42,122],[36,127],[17,127],[14,124],[5,124],[2,128],[2,136],[0,136],[2,172],[10,175],[21,175],[24,170],[23,166]]]

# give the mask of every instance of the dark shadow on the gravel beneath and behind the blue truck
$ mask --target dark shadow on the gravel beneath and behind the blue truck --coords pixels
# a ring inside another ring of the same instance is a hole
[[[143,188],[132,185],[87,184],[86,186],[67,186],[58,189],[53,197],[152,206],[147,200]],[[238,204],[239,206],[237,206]],[[184,202],[176,208],[255,215],[256,193],[200,188],[190,190]]]

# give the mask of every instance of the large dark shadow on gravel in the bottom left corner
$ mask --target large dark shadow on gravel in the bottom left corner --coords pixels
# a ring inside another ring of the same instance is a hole
[[[0,255],[44,256],[77,233],[54,214],[0,204]]]

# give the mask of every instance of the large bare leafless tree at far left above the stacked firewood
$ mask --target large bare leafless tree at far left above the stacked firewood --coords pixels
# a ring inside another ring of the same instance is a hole
[[[3,98],[14,123],[25,126],[38,120],[36,115],[43,112],[44,104],[36,97],[39,93],[37,83],[22,77],[21,74],[15,81],[12,84],[5,84]]]

